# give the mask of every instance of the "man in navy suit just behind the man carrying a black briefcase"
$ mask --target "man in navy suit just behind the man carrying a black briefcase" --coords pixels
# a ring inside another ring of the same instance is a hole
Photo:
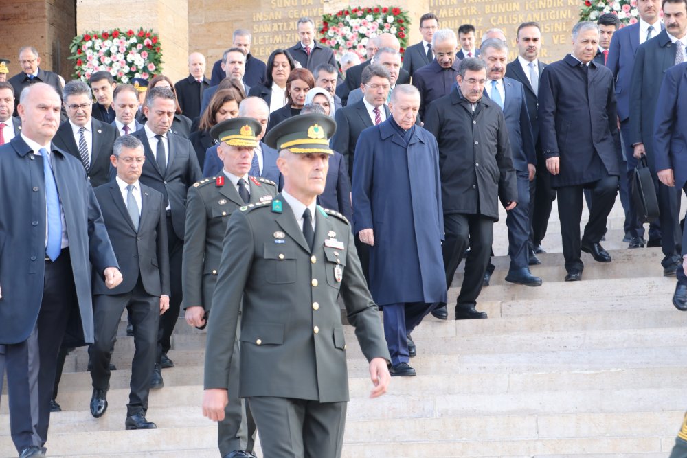
[[[627,161],[627,179],[631,179],[637,166],[637,159],[633,156],[630,139],[630,84],[632,71],[635,64],[635,52],[637,48],[657,36],[663,30],[661,22],[660,0],[638,0],[637,10],[640,14],[638,23],[622,27],[611,38],[611,47],[608,51],[606,66],[613,73],[613,82],[616,85],[616,98],[618,100],[618,121],[620,122],[620,135],[625,147],[625,160]],[[658,84],[658,83],[656,83]],[[622,171],[621,171],[622,172]],[[635,221],[634,229],[630,227],[630,247],[644,246],[644,226],[637,222],[637,211],[632,199],[629,199],[629,220]],[[658,222],[649,225],[649,241],[647,247],[659,247],[661,244],[661,228]]]

